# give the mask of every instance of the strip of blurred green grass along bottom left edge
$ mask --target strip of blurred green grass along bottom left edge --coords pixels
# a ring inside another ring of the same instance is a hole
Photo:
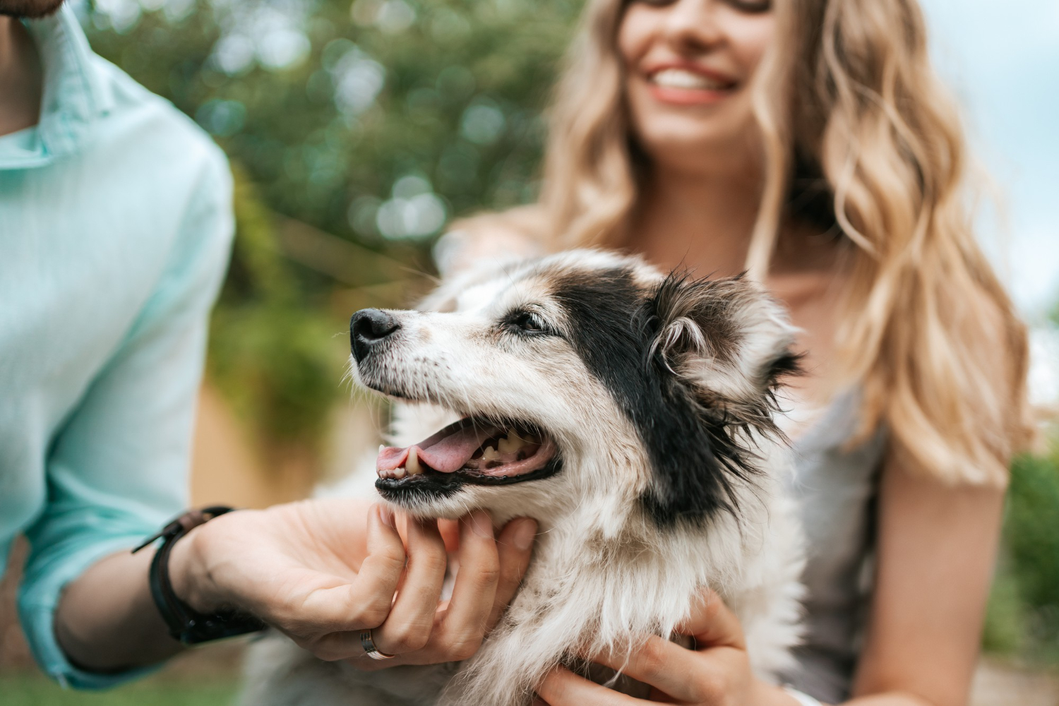
[[[111,691],[64,689],[39,674],[0,675],[3,706],[231,706],[235,680],[147,678]]]

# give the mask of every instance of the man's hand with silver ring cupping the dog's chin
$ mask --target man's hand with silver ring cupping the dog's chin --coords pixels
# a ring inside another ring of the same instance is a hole
[[[392,512],[346,500],[232,512],[177,542],[174,589],[203,613],[249,611],[323,659],[389,667],[470,656],[515,595],[536,523],[515,520],[495,540],[487,513],[461,521],[461,571],[441,610],[446,548],[436,523],[408,521],[407,550],[396,527]],[[400,656],[364,657],[365,628],[379,650]]]

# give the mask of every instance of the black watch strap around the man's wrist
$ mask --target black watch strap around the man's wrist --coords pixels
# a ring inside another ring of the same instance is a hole
[[[184,645],[197,645],[209,640],[245,635],[266,628],[265,622],[261,619],[238,611],[221,611],[214,615],[199,613],[177,598],[173,583],[169,581],[169,553],[177,540],[195,527],[232,510],[233,508],[222,505],[201,510],[190,510],[174,519],[160,532],[132,549],[134,554],[156,540],[162,540],[161,546],[158,547],[155,558],[150,562],[150,595],[155,599],[158,612],[162,614],[165,624],[169,628],[169,635]]]

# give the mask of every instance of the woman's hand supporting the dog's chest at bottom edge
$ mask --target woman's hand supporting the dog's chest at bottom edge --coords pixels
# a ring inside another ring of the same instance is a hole
[[[593,662],[651,687],[649,701],[611,691],[559,668],[537,688],[548,706],[633,706],[650,702],[702,706],[795,706],[782,689],[754,676],[738,618],[710,591],[680,633],[695,638],[696,650],[651,637],[626,658],[591,655]]]

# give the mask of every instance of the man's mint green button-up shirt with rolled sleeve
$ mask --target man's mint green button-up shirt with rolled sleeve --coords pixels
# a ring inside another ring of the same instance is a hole
[[[26,23],[39,124],[0,137],[0,571],[32,550],[19,615],[65,684],[64,586],[187,504],[207,322],[232,235],[223,155],[92,54],[73,12]]]

